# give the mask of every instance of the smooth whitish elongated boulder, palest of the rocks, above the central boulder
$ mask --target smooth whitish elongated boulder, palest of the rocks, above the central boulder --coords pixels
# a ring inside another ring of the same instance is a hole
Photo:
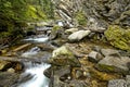
[[[86,36],[88,36],[91,30],[78,30],[68,36],[69,41],[79,41]]]

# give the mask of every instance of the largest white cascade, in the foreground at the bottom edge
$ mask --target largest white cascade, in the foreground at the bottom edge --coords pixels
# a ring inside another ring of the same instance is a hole
[[[27,62],[25,66],[20,84],[15,87],[49,87],[50,79],[43,75],[43,71],[50,67],[50,64]]]

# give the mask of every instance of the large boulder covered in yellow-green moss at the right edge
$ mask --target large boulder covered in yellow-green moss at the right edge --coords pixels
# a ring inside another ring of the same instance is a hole
[[[118,25],[110,25],[104,34],[112,46],[130,51],[130,27],[123,29]]]

